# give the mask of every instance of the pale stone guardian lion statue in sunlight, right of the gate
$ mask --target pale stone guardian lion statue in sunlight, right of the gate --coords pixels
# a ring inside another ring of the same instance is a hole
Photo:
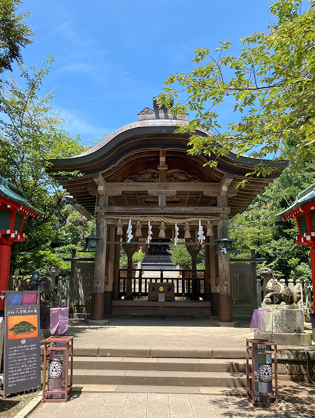
[[[262,288],[264,292],[266,292],[263,303],[266,303],[267,305],[272,304],[273,296],[276,296],[280,300],[280,303],[284,305],[292,305],[301,299],[299,285],[295,285],[292,289],[290,289],[274,277],[272,269],[260,269],[259,274],[263,279]]]

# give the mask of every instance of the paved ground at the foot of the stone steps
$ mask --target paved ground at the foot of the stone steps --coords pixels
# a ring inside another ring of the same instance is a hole
[[[274,407],[253,407],[236,396],[184,393],[75,393],[41,404],[30,418],[284,418]]]

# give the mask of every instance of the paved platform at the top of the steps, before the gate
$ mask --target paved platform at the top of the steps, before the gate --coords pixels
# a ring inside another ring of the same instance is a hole
[[[215,321],[194,319],[110,319],[108,326],[87,326],[70,320],[67,335],[74,335],[74,348],[150,347],[154,349],[212,349],[218,347],[245,350],[246,338],[253,337],[249,322],[236,328],[216,327]]]

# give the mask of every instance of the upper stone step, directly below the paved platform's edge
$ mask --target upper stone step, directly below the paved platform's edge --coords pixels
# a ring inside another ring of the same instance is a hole
[[[238,358],[140,358],[74,357],[76,370],[157,370],[194,372],[246,372],[246,360]]]

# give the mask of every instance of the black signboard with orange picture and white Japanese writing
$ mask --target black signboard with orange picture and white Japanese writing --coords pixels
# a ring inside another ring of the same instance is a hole
[[[5,307],[4,395],[40,386],[38,305]]]

